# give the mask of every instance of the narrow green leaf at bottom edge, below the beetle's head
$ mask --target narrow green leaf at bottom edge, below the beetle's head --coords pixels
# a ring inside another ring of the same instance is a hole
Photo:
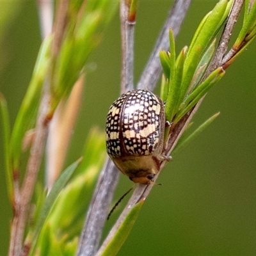
[[[138,204],[132,207],[129,214],[127,214],[124,222],[120,225],[118,230],[116,231],[115,236],[106,246],[102,256],[114,256],[118,253],[122,245],[124,244],[125,240],[129,236],[131,229],[138,218],[138,214],[140,212],[141,206],[143,205],[144,200],[138,202]]]

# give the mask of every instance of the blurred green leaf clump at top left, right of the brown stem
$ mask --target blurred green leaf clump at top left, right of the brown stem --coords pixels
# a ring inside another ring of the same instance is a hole
[[[118,1],[87,1],[80,10],[76,5],[70,6],[72,19],[52,70],[51,113],[61,99],[68,97],[81,76],[89,54],[99,44],[103,29],[117,10]]]

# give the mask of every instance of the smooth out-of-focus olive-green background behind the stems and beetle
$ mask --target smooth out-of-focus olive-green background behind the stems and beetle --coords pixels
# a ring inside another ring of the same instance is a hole
[[[177,37],[178,51],[189,44],[200,20],[216,2],[193,1]],[[41,40],[36,3],[1,2],[2,12],[5,4],[11,10],[4,12],[6,19],[0,28],[0,90],[8,101],[13,125]],[[172,1],[140,1],[135,36],[136,81],[171,4]],[[228,68],[221,83],[205,98],[193,127],[218,111],[221,115],[164,168],[157,180],[162,186],[156,186],[148,196],[118,255],[256,255],[255,45],[253,42]],[[97,68],[86,77],[83,106],[67,164],[81,156],[90,127],[104,129],[108,108],[120,92],[120,63],[116,13],[102,43],[90,56],[89,64]],[[2,141],[1,137],[0,255],[6,255],[12,209],[7,200]],[[122,175],[115,200],[131,185]],[[125,200],[121,207],[124,205]],[[104,235],[120,208],[108,221]]]

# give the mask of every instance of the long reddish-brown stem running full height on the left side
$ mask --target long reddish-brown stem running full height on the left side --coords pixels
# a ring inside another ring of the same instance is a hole
[[[38,2],[38,4],[42,4]],[[52,43],[52,72],[54,70],[54,60],[56,55],[60,51],[61,41],[63,38],[63,33],[65,31],[65,26],[67,22],[67,6],[68,1],[61,1],[59,4],[59,8],[57,10],[57,18],[56,24],[54,26],[55,36]],[[48,28],[49,29],[49,28]],[[49,31],[48,31],[49,32]],[[46,31],[42,31],[43,34],[48,33]],[[52,82],[52,81],[51,81]],[[28,207],[31,197],[33,195],[33,190],[35,187],[36,177],[40,168],[41,160],[42,160],[42,152],[44,148],[44,141],[47,132],[47,127],[49,124],[49,118],[51,116],[47,116],[49,112],[49,81],[45,79],[44,81],[44,89],[42,93],[42,100],[40,102],[40,108],[38,110],[38,118],[36,120],[36,128],[35,128],[35,139],[33,141],[30,156],[28,160],[28,166],[26,175],[24,178],[24,182],[22,184],[22,189],[20,189],[19,195],[15,198],[14,205],[14,218],[12,221],[11,228],[11,237],[10,237],[10,247],[9,247],[9,255],[20,255],[22,252],[22,243],[24,238],[24,230],[26,227],[26,217],[28,214]],[[16,189],[18,191],[18,189]],[[26,252],[28,250],[26,249]]]

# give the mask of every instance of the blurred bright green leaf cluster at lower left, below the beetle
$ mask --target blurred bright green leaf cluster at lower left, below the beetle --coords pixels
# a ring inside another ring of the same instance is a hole
[[[81,159],[71,164],[54,183],[49,195],[39,188],[36,193],[35,225],[29,228],[26,243],[30,255],[74,255],[83,227],[84,212],[104,159],[104,132],[92,129]],[[42,202],[40,207],[39,202]]]

